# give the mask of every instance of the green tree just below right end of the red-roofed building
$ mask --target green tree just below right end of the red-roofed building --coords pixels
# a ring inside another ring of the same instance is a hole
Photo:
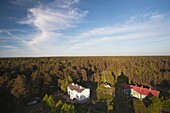
[[[162,102],[158,97],[151,97],[152,104],[148,107],[150,113],[160,113]]]

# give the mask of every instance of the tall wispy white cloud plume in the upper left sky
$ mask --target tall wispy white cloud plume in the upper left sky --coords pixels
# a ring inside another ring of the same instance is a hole
[[[50,38],[59,38],[63,34],[61,30],[76,27],[87,15],[87,11],[81,11],[73,7],[78,0],[51,2],[48,5],[40,4],[37,7],[28,9],[27,17],[19,21],[20,24],[28,24],[37,30],[36,37],[27,44],[29,46],[39,44]]]

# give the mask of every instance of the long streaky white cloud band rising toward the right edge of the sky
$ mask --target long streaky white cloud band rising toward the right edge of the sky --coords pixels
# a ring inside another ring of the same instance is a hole
[[[158,14],[166,16],[161,17]],[[153,21],[153,17],[157,21]],[[161,21],[160,18],[165,21]],[[98,27],[82,32],[78,36],[73,36],[76,38],[70,41],[70,44],[72,44],[70,49],[72,51],[85,48],[93,49],[101,45],[116,44],[128,40],[150,40],[151,38],[158,40],[159,38],[165,38],[170,36],[168,19],[168,13],[151,12],[137,14],[122,24]]]

